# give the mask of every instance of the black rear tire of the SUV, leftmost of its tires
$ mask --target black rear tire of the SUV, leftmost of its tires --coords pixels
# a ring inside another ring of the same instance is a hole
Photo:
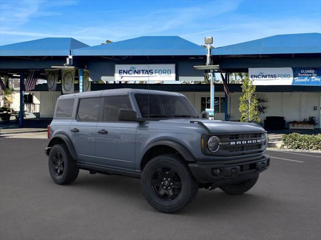
[[[62,156],[61,162],[63,162],[60,163],[60,165],[63,165],[64,168],[62,174],[59,174],[61,171],[58,173],[57,169],[55,169],[57,166],[56,161],[60,154]],[[57,184],[68,184],[76,180],[79,173],[79,167],[72,159],[68,147],[65,144],[56,144],[51,148],[48,162],[51,178]]]

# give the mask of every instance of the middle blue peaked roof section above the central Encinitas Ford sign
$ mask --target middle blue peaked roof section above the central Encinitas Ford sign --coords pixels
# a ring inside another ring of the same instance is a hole
[[[75,56],[206,55],[206,48],[179,36],[141,36],[75,49]]]

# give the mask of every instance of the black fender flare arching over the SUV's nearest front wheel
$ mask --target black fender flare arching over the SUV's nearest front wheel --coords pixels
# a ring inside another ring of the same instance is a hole
[[[174,148],[175,150],[177,150],[186,161],[196,161],[195,157],[193,156],[193,154],[191,153],[191,151],[189,149],[187,149],[187,147],[185,147],[184,145],[182,145],[181,143],[174,141],[174,140],[157,140],[153,143],[151,143],[150,145],[148,145],[146,147],[146,149],[144,150],[144,153],[142,154],[142,159],[144,158],[146,152],[157,145],[166,145],[166,146],[170,146],[172,148]],[[142,161],[141,159],[141,161]]]

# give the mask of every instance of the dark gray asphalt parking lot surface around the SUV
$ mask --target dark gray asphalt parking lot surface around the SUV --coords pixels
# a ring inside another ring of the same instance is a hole
[[[140,180],[81,170],[49,175],[47,139],[0,137],[0,239],[320,239],[321,153],[269,151],[247,193],[200,189],[188,207],[160,213]]]

